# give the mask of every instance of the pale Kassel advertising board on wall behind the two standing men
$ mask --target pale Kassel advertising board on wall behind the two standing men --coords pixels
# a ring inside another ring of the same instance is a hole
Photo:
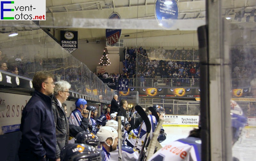
[[[9,133],[20,130],[21,113],[25,105],[31,98],[28,95],[0,93],[1,107],[4,107],[3,111],[0,111],[0,127],[3,133]],[[74,101],[65,101],[67,104],[67,116],[75,109]],[[5,105],[3,105],[5,104]]]

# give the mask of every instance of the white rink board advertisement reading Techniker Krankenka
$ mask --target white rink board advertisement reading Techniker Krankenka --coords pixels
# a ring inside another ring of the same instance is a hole
[[[198,127],[198,115],[164,115],[163,126]]]

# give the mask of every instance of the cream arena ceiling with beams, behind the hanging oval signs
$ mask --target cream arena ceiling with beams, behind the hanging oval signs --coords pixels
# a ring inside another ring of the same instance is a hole
[[[178,0],[179,20],[167,34],[195,31],[205,24],[205,0]],[[46,0],[46,21],[40,21],[41,27],[58,30],[79,31],[78,39],[99,39],[105,37],[105,28],[122,27],[122,35],[134,33],[153,33],[166,30],[158,26],[155,17],[155,0]],[[224,0],[222,15],[229,15],[230,24],[250,25],[255,27],[252,10],[256,8],[255,0]],[[234,20],[237,13],[243,14],[241,21]],[[112,12],[119,13],[122,22],[108,23]],[[254,10],[255,12],[255,10]],[[249,22],[245,22],[250,15]],[[136,36],[133,36],[136,37]]]

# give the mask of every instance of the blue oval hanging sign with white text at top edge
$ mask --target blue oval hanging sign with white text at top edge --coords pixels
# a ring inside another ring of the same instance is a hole
[[[165,4],[164,4],[165,3]],[[178,19],[179,9],[176,0],[156,0],[155,15],[159,25],[170,28],[174,19]]]

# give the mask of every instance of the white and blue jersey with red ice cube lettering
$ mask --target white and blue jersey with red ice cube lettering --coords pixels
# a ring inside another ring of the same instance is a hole
[[[201,161],[201,139],[187,137],[165,145],[148,161]]]

